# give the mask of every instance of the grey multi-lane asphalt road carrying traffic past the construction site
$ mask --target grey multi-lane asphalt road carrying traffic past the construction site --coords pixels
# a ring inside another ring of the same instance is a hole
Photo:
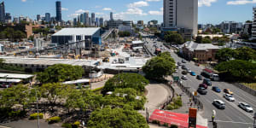
[[[146,39],[149,44],[150,48],[148,49],[154,49],[153,47],[153,40]],[[162,43],[157,42],[158,46],[162,45],[163,48],[165,48],[167,51],[169,51],[174,58],[175,61],[181,61],[182,58],[178,57],[172,49],[167,49]],[[152,50],[153,51],[153,50]],[[193,72],[196,74],[200,74],[202,67],[197,67],[193,62],[187,62],[185,64],[186,67],[189,67]],[[181,77],[182,69],[178,69],[178,75]],[[195,91],[198,88],[198,85],[202,83],[201,80],[195,79],[195,76],[187,75],[189,77],[188,80],[183,80],[183,84],[187,87],[190,87],[190,91]],[[236,98],[235,102],[228,102],[223,98],[223,92],[216,93],[210,89],[208,89],[207,96],[200,96],[199,99],[204,104],[204,117],[211,120],[212,118],[212,110],[214,109],[217,113],[216,120],[218,122],[218,128],[248,128],[253,127],[253,113],[247,113],[241,108],[238,108],[238,102],[247,102],[249,105],[253,107],[253,110],[256,110],[256,98],[255,96],[252,96],[245,92],[244,90],[241,90],[237,88],[233,84],[228,84],[225,82],[212,82],[212,85],[218,86],[221,90],[223,89],[230,89],[234,92],[234,97]],[[224,110],[219,110],[218,108],[215,108],[212,105],[212,101],[218,99],[222,100],[226,104],[226,108]]]

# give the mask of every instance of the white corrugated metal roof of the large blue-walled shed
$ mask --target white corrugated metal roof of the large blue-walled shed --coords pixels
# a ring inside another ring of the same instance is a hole
[[[100,27],[82,27],[82,28],[63,28],[56,32],[53,36],[70,36],[70,35],[85,35],[91,36],[100,30]]]

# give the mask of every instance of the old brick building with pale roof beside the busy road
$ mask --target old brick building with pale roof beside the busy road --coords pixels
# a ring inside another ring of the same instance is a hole
[[[188,41],[183,44],[180,53],[188,60],[195,60],[200,63],[207,61],[217,61],[215,55],[218,52],[218,46],[213,44],[197,44],[193,41]]]

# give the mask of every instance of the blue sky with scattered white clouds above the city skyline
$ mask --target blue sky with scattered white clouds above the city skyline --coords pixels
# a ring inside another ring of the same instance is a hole
[[[0,0],[1,2],[3,0]],[[12,16],[29,16],[49,12],[55,15],[55,0],[5,0],[6,12]],[[198,23],[218,24],[223,20],[244,22],[253,19],[256,0],[199,0]],[[61,0],[62,19],[72,20],[75,15],[89,11],[96,17],[109,19],[113,11],[115,19],[159,20],[162,22],[163,0]]]

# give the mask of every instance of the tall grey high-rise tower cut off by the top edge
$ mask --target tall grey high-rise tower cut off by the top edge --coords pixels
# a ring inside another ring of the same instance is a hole
[[[191,29],[197,33],[198,0],[164,0],[164,27]]]

